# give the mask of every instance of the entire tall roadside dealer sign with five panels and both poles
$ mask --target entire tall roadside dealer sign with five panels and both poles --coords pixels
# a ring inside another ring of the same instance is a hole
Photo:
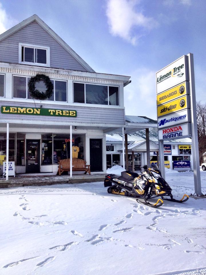
[[[184,55],[156,73],[160,170],[164,176],[166,140],[192,138],[195,194],[200,196],[201,178],[197,135],[193,54]],[[178,162],[187,165],[187,159]],[[178,164],[177,163],[177,164]]]

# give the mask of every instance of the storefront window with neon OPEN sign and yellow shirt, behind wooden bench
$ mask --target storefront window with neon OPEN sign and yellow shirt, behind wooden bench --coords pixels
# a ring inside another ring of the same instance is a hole
[[[60,160],[70,158],[70,134],[54,134],[53,136],[54,163],[58,163]],[[72,135],[72,158],[80,158],[84,160],[84,135]]]

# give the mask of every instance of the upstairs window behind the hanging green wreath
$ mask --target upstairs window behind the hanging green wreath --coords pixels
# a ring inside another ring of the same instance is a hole
[[[13,97],[14,98],[32,99],[28,89],[29,80],[30,80],[30,77],[27,77],[27,76],[13,76]],[[67,101],[67,81],[51,79],[51,82],[54,85],[54,93],[49,99],[46,99],[46,100],[66,102]],[[46,90],[46,85],[43,80],[37,82],[35,87],[37,90],[41,92],[45,92]]]

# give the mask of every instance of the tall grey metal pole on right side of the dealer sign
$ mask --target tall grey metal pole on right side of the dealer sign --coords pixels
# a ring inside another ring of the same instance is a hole
[[[201,192],[201,178],[199,165],[199,146],[197,134],[197,111],[195,97],[195,74],[193,54],[189,53],[188,58],[188,75],[189,75],[189,90],[190,90],[190,110],[191,110],[191,133],[192,133],[192,148],[193,148],[193,170],[195,182],[195,194],[203,195]]]

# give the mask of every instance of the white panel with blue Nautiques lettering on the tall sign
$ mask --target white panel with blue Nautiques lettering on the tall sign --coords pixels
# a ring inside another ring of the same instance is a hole
[[[189,109],[186,109],[184,111],[180,111],[177,113],[172,113],[170,115],[167,115],[165,117],[159,117],[158,118],[158,128],[165,128],[172,125],[180,124],[190,122],[190,112]]]

